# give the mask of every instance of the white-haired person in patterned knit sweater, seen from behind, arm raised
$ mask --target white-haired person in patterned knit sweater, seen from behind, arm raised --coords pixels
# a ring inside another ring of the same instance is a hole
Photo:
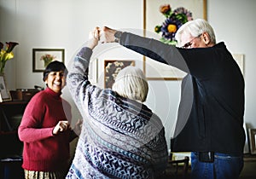
[[[127,66],[113,89],[90,84],[88,66],[99,41],[96,28],[73,59],[67,86],[84,117],[67,178],[159,178],[167,165],[165,129],[143,104],[148,82],[141,69]]]

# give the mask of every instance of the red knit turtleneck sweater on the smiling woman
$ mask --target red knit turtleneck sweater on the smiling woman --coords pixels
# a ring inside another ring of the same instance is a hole
[[[26,106],[18,130],[24,143],[22,167],[26,170],[67,169],[70,131],[52,134],[60,120],[71,119],[71,106],[60,95],[47,88],[34,95]]]

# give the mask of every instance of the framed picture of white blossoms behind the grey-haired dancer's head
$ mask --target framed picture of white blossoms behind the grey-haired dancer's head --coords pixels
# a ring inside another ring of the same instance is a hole
[[[119,71],[126,66],[135,66],[135,61],[119,61],[119,60],[105,60],[104,61],[104,87],[111,89],[113,82]]]

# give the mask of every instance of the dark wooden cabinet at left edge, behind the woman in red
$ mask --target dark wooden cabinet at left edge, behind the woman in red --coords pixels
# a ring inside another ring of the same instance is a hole
[[[0,178],[24,178],[23,142],[18,137],[18,127],[27,103],[28,100],[0,102]]]

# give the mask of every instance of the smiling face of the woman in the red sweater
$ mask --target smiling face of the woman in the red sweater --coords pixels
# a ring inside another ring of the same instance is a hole
[[[47,84],[50,90],[55,91],[55,93],[60,93],[66,85],[66,77],[64,72],[49,72],[47,78],[45,79],[45,84]]]

